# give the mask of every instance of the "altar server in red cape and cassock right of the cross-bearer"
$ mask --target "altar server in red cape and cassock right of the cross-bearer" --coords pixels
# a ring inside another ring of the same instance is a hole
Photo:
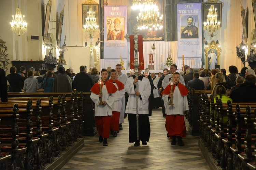
[[[172,138],[171,145],[176,145],[176,141],[178,140],[178,145],[184,146],[182,138],[186,137],[184,113],[189,109],[187,101],[188,89],[186,88],[186,86],[179,82],[180,73],[174,72],[172,75],[172,79],[175,83],[173,85],[173,94],[170,94],[170,84],[162,92],[167,115],[165,128],[168,132],[167,136],[170,136],[170,138]],[[173,97],[174,105],[169,105],[170,97]]]

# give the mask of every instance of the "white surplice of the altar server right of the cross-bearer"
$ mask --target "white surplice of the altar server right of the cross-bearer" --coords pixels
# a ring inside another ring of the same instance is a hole
[[[184,115],[183,111],[187,111],[189,109],[187,96],[181,96],[181,92],[178,87],[175,87],[173,91],[172,103],[174,105],[169,105],[171,98],[168,96],[169,95],[163,95],[165,113],[167,115]]]

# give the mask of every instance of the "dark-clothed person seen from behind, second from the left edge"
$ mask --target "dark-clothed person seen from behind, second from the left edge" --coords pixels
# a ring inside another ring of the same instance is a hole
[[[9,91],[8,92],[22,92],[22,90],[20,89],[20,82],[22,82],[22,84],[25,81],[25,75],[23,73],[16,73],[17,69],[15,66],[12,66],[10,68],[10,73],[6,76],[6,80],[8,80],[10,87],[9,87]]]

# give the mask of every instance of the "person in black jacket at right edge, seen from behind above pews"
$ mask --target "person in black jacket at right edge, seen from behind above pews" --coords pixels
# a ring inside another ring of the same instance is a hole
[[[256,102],[256,78],[250,74],[244,78],[243,84],[237,89],[233,90],[230,94],[230,98],[233,102],[251,103]]]

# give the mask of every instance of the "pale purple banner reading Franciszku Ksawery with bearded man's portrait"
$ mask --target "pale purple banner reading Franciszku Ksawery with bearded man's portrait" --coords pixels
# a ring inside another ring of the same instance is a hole
[[[201,15],[202,3],[177,4],[178,60],[202,58]]]

